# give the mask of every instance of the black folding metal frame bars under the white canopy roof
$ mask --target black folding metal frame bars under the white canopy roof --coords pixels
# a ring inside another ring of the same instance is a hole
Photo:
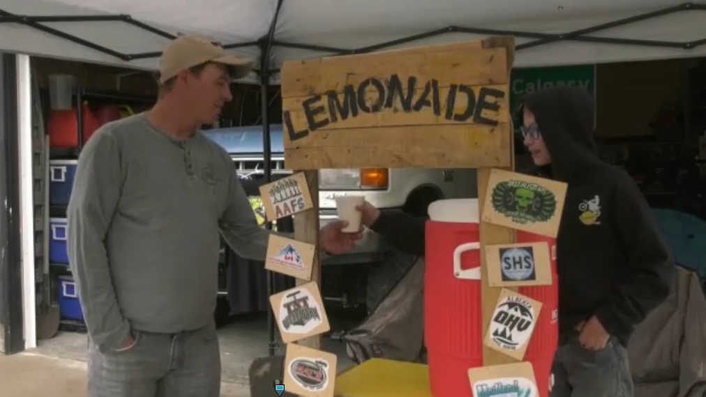
[[[275,11],[275,17],[273,21],[277,20],[280,8],[282,6],[282,1],[277,1],[277,9]],[[425,39],[429,37],[435,37],[438,35],[444,35],[448,33],[468,33],[472,35],[489,35],[489,36],[515,36],[520,38],[535,39],[532,42],[527,42],[524,44],[519,44],[515,47],[515,51],[520,51],[522,49],[537,47],[544,44],[550,44],[553,42],[561,41],[575,41],[575,42],[591,42],[600,44],[623,44],[623,45],[636,45],[645,47],[662,47],[662,48],[675,48],[675,49],[694,49],[706,44],[706,37],[703,39],[696,39],[688,42],[669,42],[661,40],[645,40],[645,39],[625,39],[619,37],[591,37],[587,36],[595,32],[599,32],[606,29],[616,28],[618,26],[628,25],[630,23],[641,22],[644,20],[650,20],[654,18],[659,18],[661,16],[666,16],[671,13],[686,12],[686,11],[706,11],[706,4],[693,4],[693,3],[683,3],[678,6],[671,6],[667,8],[662,8],[657,11],[652,11],[650,13],[642,13],[637,16],[630,18],[623,18],[621,20],[614,20],[609,23],[602,23],[600,25],[595,25],[590,28],[583,28],[580,30],[574,30],[572,32],[558,33],[558,34],[546,34],[537,32],[520,32],[513,30],[495,30],[495,29],[481,29],[481,28],[463,28],[460,26],[448,26],[446,28],[431,30],[429,32],[422,32],[418,35],[412,35],[408,37],[402,37],[400,39],[391,40],[389,42],[383,42],[380,44],[374,44],[371,46],[361,47],[358,49],[342,49],[336,47],[325,47],[317,46],[313,44],[301,44],[292,42],[282,42],[274,39],[274,30],[270,25],[270,32],[263,39],[259,39],[252,42],[241,42],[233,44],[225,44],[223,47],[225,49],[236,49],[241,47],[261,47],[263,40],[266,40],[268,49],[272,47],[289,47],[289,48],[299,48],[299,49],[309,49],[312,51],[327,52],[333,54],[365,54],[372,51],[377,51],[379,49],[384,49],[392,47],[395,45],[406,44],[409,42],[414,42],[419,39]],[[161,51],[143,52],[137,54],[124,54],[113,49],[89,42],[88,40],[76,37],[74,35],[69,35],[66,32],[57,30],[55,28],[50,28],[47,25],[42,25],[42,23],[81,23],[81,22],[97,22],[97,21],[110,21],[110,22],[124,22],[129,23],[136,28],[152,32],[155,35],[164,37],[165,39],[174,39],[174,35],[164,30],[153,28],[146,23],[142,23],[138,20],[133,19],[129,15],[90,15],[90,16],[21,16],[8,11],[0,9],[0,23],[19,23],[21,25],[29,26],[42,32],[49,33],[49,35],[54,35],[62,39],[66,39],[70,42],[82,45],[83,47],[88,47],[94,49],[95,51],[102,52],[103,54],[108,54],[114,56],[122,61],[133,61],[136,59],[150,59],[158,58]],[[276,71],[270,71],[270,75]]]

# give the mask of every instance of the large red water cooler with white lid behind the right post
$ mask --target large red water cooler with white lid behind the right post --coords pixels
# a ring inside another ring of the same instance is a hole
[[[547,241],[552,267],[554,239],[517,231],[517,242]],[[433,397],[472,397],[468,369],[483,365],[478,200],[439,200],[429,206],[424,266],[424,345]],[[541,397],[548,397],[557,343],[554,285],[522,287],[543,303],[527,346]]]

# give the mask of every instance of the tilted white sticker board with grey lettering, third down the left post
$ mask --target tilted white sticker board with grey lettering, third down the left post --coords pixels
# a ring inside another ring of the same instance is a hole
[[[270,305],[284,343],[330,330],[316,281],[270,296]]]

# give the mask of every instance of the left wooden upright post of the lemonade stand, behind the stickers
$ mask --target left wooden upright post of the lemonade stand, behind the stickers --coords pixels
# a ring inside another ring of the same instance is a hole
[[[309,185],[313,208],[294,216],[294,240],[316,245],[311,269],[311,281],[316,281],[319,289],[321,289],[321,257],[318,255],[320,250],[318,245],[318,171],[304,171],[304,176],[306,176],[306,184]],[[306,283],[309,283],[309,281],[297,279],[297,286]],[[321,349],[321,335],[301,339],[297,341],[297,344]]]

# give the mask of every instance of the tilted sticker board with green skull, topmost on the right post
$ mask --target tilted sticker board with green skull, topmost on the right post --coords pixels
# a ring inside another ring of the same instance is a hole
[[[492,169],[481,220],[556,238],[566,183]]]

